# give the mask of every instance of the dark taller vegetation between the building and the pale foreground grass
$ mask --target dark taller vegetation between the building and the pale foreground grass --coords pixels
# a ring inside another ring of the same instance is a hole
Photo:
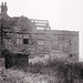
[[[58,77],[60,83],[83,83],[82,63],[66,63],[64,61],[54,60],[48,64],[30,64],[24,69],[24,72],[48,74]]]

